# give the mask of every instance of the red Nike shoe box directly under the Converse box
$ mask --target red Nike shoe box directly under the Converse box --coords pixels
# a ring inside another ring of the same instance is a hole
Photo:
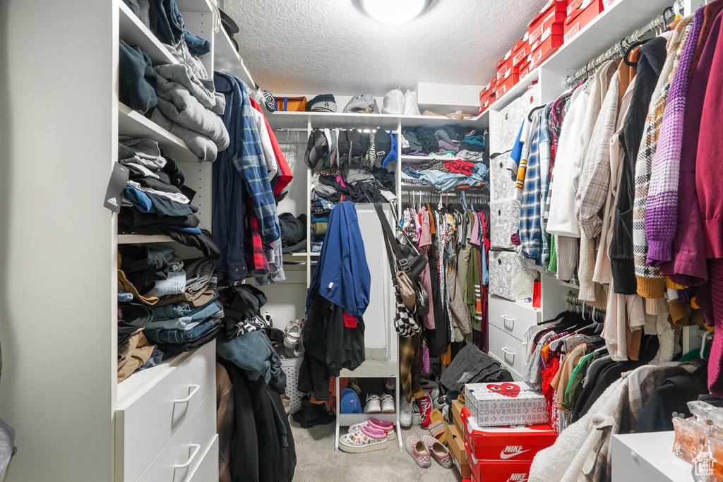
[[[532,462],[537,452],[557,440],[547,423],[481,427],[469,410],[464,410],[464,442],[469,453],[482,462]]]

